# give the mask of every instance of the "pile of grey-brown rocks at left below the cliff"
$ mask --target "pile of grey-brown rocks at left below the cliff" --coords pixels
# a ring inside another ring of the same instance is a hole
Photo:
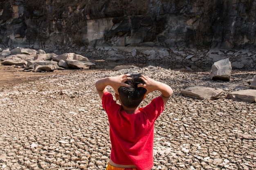
[[[44,50],[24,49],[17,47],[5,49],[0,53],[1,64],[22,66],[20,71],[54,71],[65,68],[90,69],[95,66],[87,57],[75,53],[45,53]]]

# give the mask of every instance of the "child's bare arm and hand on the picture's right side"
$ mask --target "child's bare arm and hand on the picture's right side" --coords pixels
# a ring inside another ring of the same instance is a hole
[[[141,79],[145,82],[145,84],[138,84],[138,87],[144,87],[147,89],[147,93],[151,93],[153,91],[160,91],[161,97],[164,100],[164,104],[168,101],[168,99],[173,94],[173,89],[167,84],[157,82],[154,79],[151,79],[145,75],[141,75]]]

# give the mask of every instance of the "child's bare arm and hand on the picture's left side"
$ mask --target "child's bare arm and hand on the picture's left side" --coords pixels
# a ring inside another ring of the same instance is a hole
[[[107,91],[106,86],[111,86],[114,90],[115,93],[118,93],[118,88],[121,86],[129,86],[128,84],[124,83],[126,82],[128,79],[131,79],[131,77],[129,74],[123,74],[123,75],[119,75],[119,76],[115,76],[115,77],[105,77],[102,79],[99,79],[96,83],[95,83],[95,87],[99,93],[99,96],[103,97],[103,94]]]

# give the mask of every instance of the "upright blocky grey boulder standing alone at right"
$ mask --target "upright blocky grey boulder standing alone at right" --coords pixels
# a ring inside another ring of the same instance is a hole
[[[211,79],[229,81],[231,78],[231,62],[229,59],[220,60],[211,66]]]

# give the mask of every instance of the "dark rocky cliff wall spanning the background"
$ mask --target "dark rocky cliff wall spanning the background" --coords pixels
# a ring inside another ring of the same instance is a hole
[[[2,0],[0,47],[254,49],[255,0]]]

